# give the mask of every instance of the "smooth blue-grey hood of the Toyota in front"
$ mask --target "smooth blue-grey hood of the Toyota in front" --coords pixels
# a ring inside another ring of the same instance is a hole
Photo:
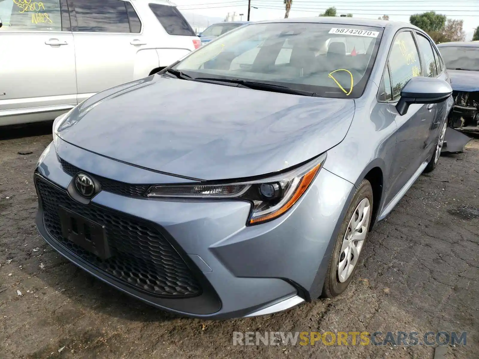
[[[354,100],[150,76],[100,92],[57,133],[96,154],[192,179],[297,165],[342,141]]]

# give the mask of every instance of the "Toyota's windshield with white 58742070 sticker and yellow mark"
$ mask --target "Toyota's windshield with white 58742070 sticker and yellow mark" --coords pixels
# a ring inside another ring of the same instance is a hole
[[[257,23],[203,46],[173,68],[192,78],[240,79],[315,96],[357,98],[376,58],[381,28]]]

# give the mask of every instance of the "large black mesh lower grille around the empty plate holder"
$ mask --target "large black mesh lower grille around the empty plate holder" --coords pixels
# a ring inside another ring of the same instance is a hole
[[[46,230],[60,245],[94,267],[150,295],[193,297],[201,287],[178,252],[152,224],[92,204],[83,205],[37,176]],[[105,226],[111,257],[102,260],[62,236],[58,206]]]

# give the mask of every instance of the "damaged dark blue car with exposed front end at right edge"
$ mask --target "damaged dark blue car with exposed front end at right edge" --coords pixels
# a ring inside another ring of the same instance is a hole
[[[437,45],[444,58],[455,101],[449,125],[456,130],[479,133],[479,42]]]

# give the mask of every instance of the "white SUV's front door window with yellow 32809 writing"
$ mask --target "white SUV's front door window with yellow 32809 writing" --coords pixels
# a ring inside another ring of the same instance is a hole
[[[60,0],[0,0],[0,31],[61,31]]]

